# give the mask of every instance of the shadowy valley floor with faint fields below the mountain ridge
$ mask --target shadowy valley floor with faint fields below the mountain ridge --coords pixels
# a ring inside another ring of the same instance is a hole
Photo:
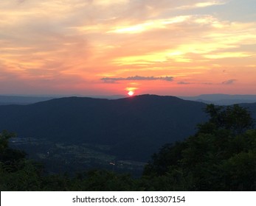
[[[75,175],[90,169],[107,169],[139,177],[145,162],[122,160],[110,154],[111,146],[97,144],[54,143],[46,139],[13,138],[13,149],[27,153],[27,158],[43,163],[47,174]]]

